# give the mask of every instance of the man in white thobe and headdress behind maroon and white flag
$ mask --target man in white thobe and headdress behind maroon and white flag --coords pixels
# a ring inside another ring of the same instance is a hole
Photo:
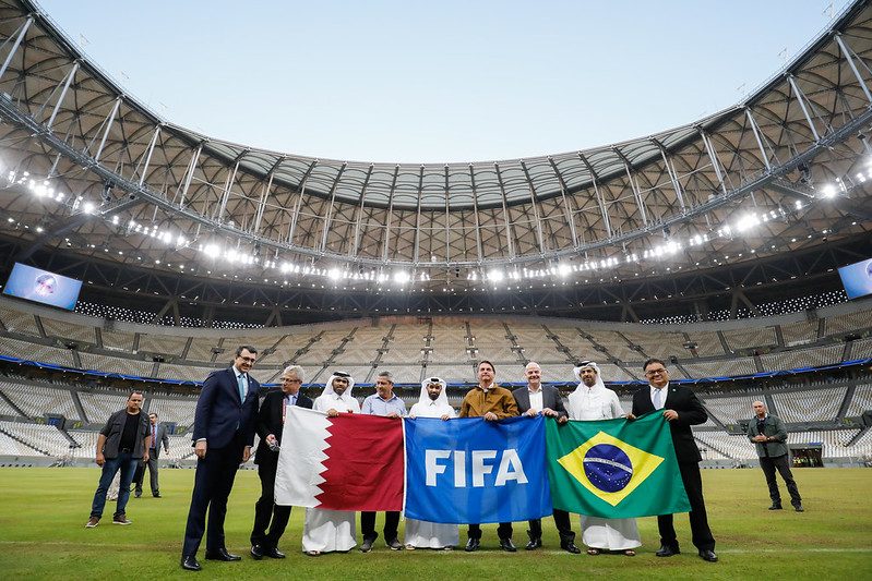
[[[312,407],[331,417],[339,413],[360,413],[360,403],[351,397],[354,378],[344,372],[333,372],[324,391]],[[302,526],[302,550],[310,557],[334,550],[345,553],[357,545],[355,512],[349,510],[327,510],[307,508]]]

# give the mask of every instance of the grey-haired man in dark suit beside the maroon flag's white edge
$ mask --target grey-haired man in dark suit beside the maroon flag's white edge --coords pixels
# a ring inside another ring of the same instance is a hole
[[[258,464],[261,479],[261,497],[254,505],[254,525],[251,530],[251,556],[254,559],[262,559],[264,555],[274,559],[285,558],[285,554],[278,550],[278,540],[288,524],[290,507],[275,504],[275,475],[287,407],[312,409],[312,400],[300,394],[303,378],[299,365],[286,367],[282,373],[282,390],[267,394],[258,413],[261,443],[254,455],[254,463]],[[286,441],[285,446],[292,447],[294,443]],[[267,526],[270,532],[266,532]]]

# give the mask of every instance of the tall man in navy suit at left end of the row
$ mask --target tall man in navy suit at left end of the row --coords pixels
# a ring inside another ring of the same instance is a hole
[[[193,433],[196,474],[184,529],[182,569],[201,569],[196,549],[206,529],[207,509],[206,559],[231,561],[241,558],[227,552],[224,518],[236,471],[251,457],[254,444],[261,386],[249,376],[249,371],[256,358],[258,350],[253,347],[237,349],[232,366],[211,373],[196,400]]]

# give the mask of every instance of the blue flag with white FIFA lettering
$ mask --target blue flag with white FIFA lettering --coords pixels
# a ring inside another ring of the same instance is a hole
[[[406,517],[454,524],[551,513],[545,417],[403,421]]]

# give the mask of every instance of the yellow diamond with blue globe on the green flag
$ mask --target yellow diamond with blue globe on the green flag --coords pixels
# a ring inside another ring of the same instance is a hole
[[[585,488],[613,507],[645,482],[662,461],[662,457],[605,432],[558,459]]]

